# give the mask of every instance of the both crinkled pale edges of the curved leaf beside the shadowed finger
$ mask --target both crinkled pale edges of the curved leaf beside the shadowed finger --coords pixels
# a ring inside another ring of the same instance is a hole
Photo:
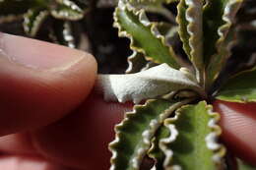
[[[151,147],[151,140],[154,137],[160,125],[162,124],[162,122],[164,121],[164,119],[166,119],[176,108],[184,104],[187,104],[192,100],[194,100],[194,98],[185,99],[183,101],[174,103],[168,109],[163,111],[163,113],[160,114],[159,118],[151,120],[149,129],[145,130],[142,133],[142,138],[143,138],[143,142],[145,143],[145,147],[137,148],[136,154],[134,154],[135,156],[131,160],[133,163],[132,166],[134,169],[140,168],[140,163],[143,160],[143,157],[147,154],[147,150],[149,150],[149,148]],[[114,147],[120,142],[120,138],[119,138],[121,134],[120,128],[122,128],[125,124],[129,122],[129,117],[136,114],[136,109],[146,107],[149,103],[153,101],[156,101],[156,99],[147,100],[146,103],[143,105],[135,105],[133,108],[133,111],[127,112],[125,114],[125,118],[123,119],[123,121],[115,126],[115,133],[116,133],[115,140],[113,142],[110,142],[108,147],[109,150],[112,152],[112,157],[110,159],[110,162],[111,162],[110,170],[115,170],[115,161],[117,161],[118,152],[117,150],[114,149]]]

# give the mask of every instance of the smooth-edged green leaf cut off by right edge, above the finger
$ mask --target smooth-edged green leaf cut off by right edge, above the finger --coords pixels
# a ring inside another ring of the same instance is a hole
[[[256,101],[256,68],[231,78],[218,92],[218,99],[231,102]]]

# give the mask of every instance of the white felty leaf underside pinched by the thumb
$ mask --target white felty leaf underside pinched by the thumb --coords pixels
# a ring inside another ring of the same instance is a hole
[[[103,92],[105,100],[139,103],[171,91],[192,89],[201,92],[195,80],[185,71],[170,68],[167,64],[128,75],[99,75],[96,88]]]

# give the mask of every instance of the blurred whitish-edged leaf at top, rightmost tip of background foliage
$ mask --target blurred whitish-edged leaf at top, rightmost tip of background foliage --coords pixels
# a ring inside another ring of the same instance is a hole
[[[71,0],[56,0],[51,15],[56,19],[78,21],[84,18],[84,11]]]

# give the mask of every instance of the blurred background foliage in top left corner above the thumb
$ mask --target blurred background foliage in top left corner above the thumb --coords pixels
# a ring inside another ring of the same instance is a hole
[[[72,22],[84,18],[88,5],[71,0],[2,0],[0,1],[0,23],[23,19],[23,27],[29,36],[36,36],[39,28],[53,18],[58,25],[50,28],[53,41],[75,47]]]

